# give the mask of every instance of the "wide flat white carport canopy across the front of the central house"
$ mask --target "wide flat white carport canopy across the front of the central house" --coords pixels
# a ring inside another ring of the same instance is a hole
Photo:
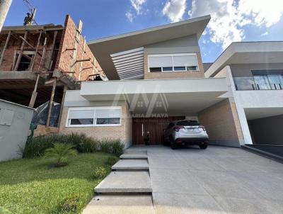
[[[151,108],[153,113],[186,115],[218,103],[227,91],[225,78],[142,79],[82,82],[80,95],[88,101],[112,101],[114,106],[117,101],[127,101],[134,113]],[[158,102],[162,105],[156,106]]]

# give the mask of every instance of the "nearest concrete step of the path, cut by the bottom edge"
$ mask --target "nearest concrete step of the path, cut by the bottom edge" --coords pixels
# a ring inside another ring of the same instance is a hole
[[[83,214],[154,214],[151,196],[100,195],[94,197]]]

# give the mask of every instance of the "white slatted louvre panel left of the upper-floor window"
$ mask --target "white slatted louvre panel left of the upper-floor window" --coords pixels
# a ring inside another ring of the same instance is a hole
[[[110,55],[120,79],[144,78],[144,47]]]

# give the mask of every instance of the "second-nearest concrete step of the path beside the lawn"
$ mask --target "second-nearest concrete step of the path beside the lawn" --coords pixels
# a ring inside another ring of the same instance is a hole
[[[148,171],[112,171],[94,188],[96,193],[151,193]]]

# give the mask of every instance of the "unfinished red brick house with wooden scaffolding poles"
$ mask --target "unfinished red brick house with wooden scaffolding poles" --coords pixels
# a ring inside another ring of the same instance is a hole
[[[64,26],[6,26],[0,34],[0,98],[37,107],[103,72],[69,15]],[[53,90],[52,90],[53,89]]]

